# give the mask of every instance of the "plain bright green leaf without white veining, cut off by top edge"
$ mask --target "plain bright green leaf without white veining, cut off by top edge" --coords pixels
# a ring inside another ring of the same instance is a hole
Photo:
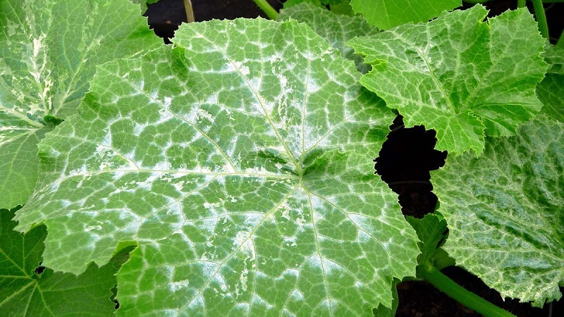
[[[442,11],[462,5],[460,0],[351,0],[356,13],[381,30],[404,23],[427,22]]]

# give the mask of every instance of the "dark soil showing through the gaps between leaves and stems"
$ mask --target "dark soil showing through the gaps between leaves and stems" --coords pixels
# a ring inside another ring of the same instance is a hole
[[[283,1],[269,0],[277,10]],[[515,0],[489,1],[490,16],[498,15],[506,8],[515,8]],[[530,4],[530,1],[528,2]],[[256,18],[265,17],[252,0],[192,0],[195,20]],[[546,4],[546,15],[554,41],[564,28],[564,3]],[[174,36],[178,25],[186,21],[182,0],[161,0],[149,6],[146,15],[149,25],[154,27],[157,35],[164,37],[165,42]],[[384,143],[384,147],[376,159],[376,168],[394,192],[403,213],[421,218],[425,213],[433,212],[437,198],[431,192],[429,170],[440,168],[444,164],[446,152],[436,151],[435,132],[425,130],[422,126],[403,128],[400,116],[391,125],[392,132]],[[375,176],[379,177],[379,176]],[[458,282],[467,290],[475,292],[503,309],[519,317],[564,316],[564,301],[546,304],[544,309],[534,309],[527,303],[506,299],[484,285],[482,280],[458,267],[443,269],[443,273]],[[563,288],[560,288],[563,292]],[[400,304],[396,316],[480,316],[446,296],[427,282],[409,281],[398,285]]]

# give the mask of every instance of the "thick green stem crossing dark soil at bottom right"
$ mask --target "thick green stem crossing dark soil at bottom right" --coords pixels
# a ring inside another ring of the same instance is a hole
[[[481,313],[486,317],[515,317],[513,313],[505,311],[498,306],[491,304],[477,294],[466,290],[464,287],[458,285],[448,276],[441,273],[434,266],[422,266],[419,270],[419,275],[430,282],[434,287],[438,288],[441,292],[446,293],[460,304],[473,309],[477,313]]]

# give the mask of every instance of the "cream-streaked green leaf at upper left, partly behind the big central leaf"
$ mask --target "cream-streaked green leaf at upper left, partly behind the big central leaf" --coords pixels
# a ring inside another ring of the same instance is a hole
[[[45,117],[75,113],[97,64],[160,43],[128,0],[0,1],[0,208],[32,192]]]

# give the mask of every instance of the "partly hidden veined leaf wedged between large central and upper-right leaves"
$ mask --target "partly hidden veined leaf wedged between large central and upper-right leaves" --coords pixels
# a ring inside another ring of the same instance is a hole
[[[378,32],[366,20],[358,16],[335,14],[326,8],[304,3],[286,8],[278,14],[278,20],[293,18],[307,24],[318,35],[326,39],[333,48],[341,52],[341,56],[355,61],[358,70],[367,73],[369,66],[362,63],[362,56],[355,55],[353,49],[345,46],[345,42],[354,37],[372,35]]]

